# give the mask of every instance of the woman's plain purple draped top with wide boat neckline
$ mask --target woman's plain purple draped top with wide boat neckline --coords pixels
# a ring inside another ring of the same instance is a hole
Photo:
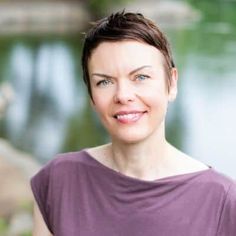
[[[236,235],[236,183],[213,169],[144,181],[83,150],[60,154],[31,187],[55,236]]]

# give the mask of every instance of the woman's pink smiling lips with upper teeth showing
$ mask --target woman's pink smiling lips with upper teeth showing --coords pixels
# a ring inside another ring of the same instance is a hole
[[[123,124],[131,124],[137,122],[145,113],[145,111],[130,111],[130,112],[118,112],[114,115],[114,118],[118,122]]]

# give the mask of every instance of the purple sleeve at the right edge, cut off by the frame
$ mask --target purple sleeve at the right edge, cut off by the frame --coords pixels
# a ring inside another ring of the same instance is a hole
[[[226,195],[217,235],[236,235],[236,183],[231,184]]]

